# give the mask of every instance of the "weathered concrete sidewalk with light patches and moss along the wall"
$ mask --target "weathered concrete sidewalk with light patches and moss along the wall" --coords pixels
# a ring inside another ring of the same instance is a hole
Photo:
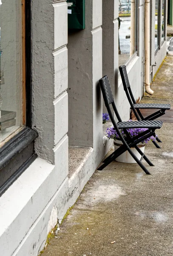
[[[167,57],[151,86],[153,96],[143,102],[173,107],[173,56]],[[157,134],[162,148],[151,142],[145,147],[155,166],[143,160],[151,175],[115,161],[96,171],[42,256],[173,255],[173,124],[164,123]]]

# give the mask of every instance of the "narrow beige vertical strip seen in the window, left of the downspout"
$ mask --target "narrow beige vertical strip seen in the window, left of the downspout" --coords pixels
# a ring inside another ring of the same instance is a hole
[[[131,21],[130,21],[130,57],[135,48],[135,0],[131,0]]]

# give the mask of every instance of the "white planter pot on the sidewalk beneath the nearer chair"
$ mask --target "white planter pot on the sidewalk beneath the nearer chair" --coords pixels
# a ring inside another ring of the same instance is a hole
[[[122,145],[122,141],[121,140],[114,140],[114,149],[116,150],[117,148],[119,148]],[[144,153],[144,149],[145,149],[145,144],[139,144],[138,147],[141,149],[141,151]],[[130,148],[131,151],[136,155],[136,157],[140,160],[141,159],[141,155],[139,154],[139,152],[136,150],[136,148]],[[136,161],[133,159],[133,157],[130,155],[130,153],[128,151],[125,151],[123,154],[121,154],[119,157],[117,157],[115,159],[117,162],[121,162],[121,163],[136,163]]]

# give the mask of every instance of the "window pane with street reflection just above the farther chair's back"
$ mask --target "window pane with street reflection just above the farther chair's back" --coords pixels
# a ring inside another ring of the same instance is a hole
[[[119,66],[136,51],[137,0],[119,1]]]

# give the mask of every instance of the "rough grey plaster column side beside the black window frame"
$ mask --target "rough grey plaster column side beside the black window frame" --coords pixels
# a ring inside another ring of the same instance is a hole
[[[44,24],[44,26],[43,26]],[[38,156],[54,163],[54,7],[52,0],[32,1],[33,126]]]

